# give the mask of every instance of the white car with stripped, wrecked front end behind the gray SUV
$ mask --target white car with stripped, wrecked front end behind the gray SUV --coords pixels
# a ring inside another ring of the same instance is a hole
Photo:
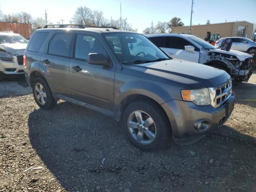
[[[252,56],[244,52],[217,49],[208,42],[188,34],[148,34],[154,44],[168,56],[225,70],[232,80],[247,82],[252,75]]]

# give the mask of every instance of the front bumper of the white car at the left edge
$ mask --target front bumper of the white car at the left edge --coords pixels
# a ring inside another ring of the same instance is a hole
[[[24,66],[18,63],[17,56],[13,56],[13,59],[0,58],[0,72],[6,75],[24,74]]]

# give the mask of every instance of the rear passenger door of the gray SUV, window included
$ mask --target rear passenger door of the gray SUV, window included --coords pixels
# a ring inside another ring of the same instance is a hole
[[[69,60],[73,34],[70,31],[56,32],[41,56],[41,62],[49,73],[48,82],[52,92],[69,97]]]

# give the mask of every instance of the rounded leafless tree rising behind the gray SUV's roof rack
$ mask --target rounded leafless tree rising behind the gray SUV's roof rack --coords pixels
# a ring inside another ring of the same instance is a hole
[[[89,25],[92,16],[92,10],[86,6],[80,6],[76,9],[72,17],[72,23]]]

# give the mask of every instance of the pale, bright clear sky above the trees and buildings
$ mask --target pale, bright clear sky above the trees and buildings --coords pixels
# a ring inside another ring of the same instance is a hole
[[[180,17],[185,25],[190,24],[192,0],[0,0],[4,14],[25,11],[33,17],[44,17],[56,23],[64,19],[69,23],[76,8],[87,6],[92,10],[102,10],[104,17],[128,18],[133,28],[142,32],[144,28],[160,22],[168,22],[172,17]],[[13,6],[15,5],[15,6]],[[256,0],[194,0],[192,24],[232,22],[246,20],[256,22]]]

